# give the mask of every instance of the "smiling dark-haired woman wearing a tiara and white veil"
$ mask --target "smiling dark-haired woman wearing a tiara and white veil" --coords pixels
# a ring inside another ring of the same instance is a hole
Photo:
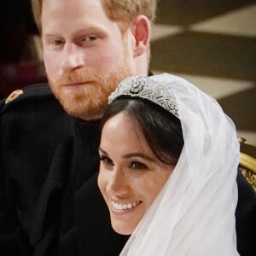
[[[102,119],[98,185],[121,255],[239,255],[233,122],[171,74],[125,79]]]

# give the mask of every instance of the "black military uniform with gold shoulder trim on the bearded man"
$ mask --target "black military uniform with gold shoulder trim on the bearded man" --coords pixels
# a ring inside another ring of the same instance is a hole
[[[116,234],[96,185],[99,121],[67,115],[47,84],[0,103],[1,255],[119,255]],[[238,176],[237,245],[255,253],[256,199]]]

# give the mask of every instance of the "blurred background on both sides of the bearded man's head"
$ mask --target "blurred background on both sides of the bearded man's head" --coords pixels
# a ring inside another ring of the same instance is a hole
[[[1,99],[46,78],[30,0],[9,0],[0,19]],[[153,73],[180,75],[216,98],[256,145],[255,0],[160,0],[151,55]]]

